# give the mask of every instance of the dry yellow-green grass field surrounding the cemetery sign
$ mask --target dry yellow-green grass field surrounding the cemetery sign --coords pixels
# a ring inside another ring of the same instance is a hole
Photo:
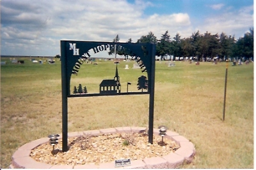
[[[61,64],[3,60],[7,64],[1,66],[1,168],[8,168],[20,146],[61,134]],[[118,66],[121,82],[134,76],[138,80],[139,69],[124,69],[125,64]],[[229,63],[225,121],[225,63],[175,64],[156,62],[154,128],[166,125],[195,145],[195,159],[181,168],[253,168],[253,64]],[[99,87],[102,79],[115,76],[113,66],[113,61],[82,65],[72,82]],[[131,90],[136,90],[136,78]],[[69,98],[68,132],[147,127],[148,101],[148,95]]]

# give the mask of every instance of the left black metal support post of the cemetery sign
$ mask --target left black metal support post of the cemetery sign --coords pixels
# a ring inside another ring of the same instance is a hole
[[[62,151],[68,150],[68,97],[66,42],[61,41]]]

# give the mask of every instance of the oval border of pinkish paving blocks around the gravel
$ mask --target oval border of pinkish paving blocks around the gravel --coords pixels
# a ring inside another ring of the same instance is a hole
[[[95,131],[84,131],[86,134],[92,134],[97,136],[99,134],[116,134],[122,132],[143,132],[145,131],[145,127],[116,127],[116,128],[109,128],[109,129],[100,129]],[[80,136],[81,132],[70,132],[68,133],[68,137],[76,137]],[[154,129],[154,134],[158,135],[159,130]],[[62,138],[62,136],[60,136]],[[123,168],[175,168],[180,166],[183,163],[189,164],[191,160],[193,160],[195,156],[195,146],[193,143],[189,142],[188,139],[180,136],[176,132],[167,131],[166,136],[164,138],[171,139],[175,141],[177,145],[180,146],[178,150],[175,152],[169,153],[168,155],[164,155],[163,157],[150,157],[145,158],[143,160],[131,160],[131,166],[124,166]],[[115,167],[115,162],[107,162],[102,163],[99,166],[97,165],[77,165],[77,166],[70,166],[70,165],[52,165],[52,164],[45,164],[42,162],[37,162],[35,159],[30,157],[31,150],[36,148],[39,145],[44,143],[49,143],[49,138],[41,138],[36,139],[35,141],[31,141],[30,143],[26,143],[25,145],[18,148],[18,150],[13,153],[12,155],[12,164],[10,168],[26,168],[26,169],[86,169],[86,168],[122,168],[122,167]]]

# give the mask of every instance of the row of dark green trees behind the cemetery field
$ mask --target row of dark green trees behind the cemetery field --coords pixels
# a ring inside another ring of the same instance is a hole
[[[120,37],[117,34],[113,42],[119,42],[119,40]],[[132,43],[132,39],[129,38],[127,43]],[[156,43],[156,55],[161,57],[161,60],[166,60],[168,55],[173,55],[173,60],[175,57],[194,57],[199,61],[212,60],[215,57],[222,60],[253,59],[253,28],[238,39],[227,36],[224,32],[218,35],[210,32],[200,34],[199,31],[193,32],[189,38],[180,38],[179,33],[171,38],[166,31],[161,39],[157,39],[150,31],[147,35],[141,36],[136,43]],[[115,51],[118,55],[124,55],[125,59],[129,56],[133,57],[131,53],[125,52],[124,48],[118,48],[118,46],[116,49],[110,49],[109,55]]]

